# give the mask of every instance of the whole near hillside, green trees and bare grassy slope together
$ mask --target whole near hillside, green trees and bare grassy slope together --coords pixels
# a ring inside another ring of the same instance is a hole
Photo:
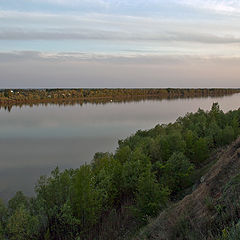
[[[214,103],[139,130],[91,164],[56,168],[33,198],[0,202],[0,239],[129,239],[159,214],[137,240],[228,236],[240,216],[239,120],[240,109]]]

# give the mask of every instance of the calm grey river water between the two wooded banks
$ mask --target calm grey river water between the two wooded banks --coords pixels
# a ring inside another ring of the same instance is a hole
[[[95,152],[113,152],[119,139],[138,129],[175,121],[218,102],[240,107],[240,94],[216,98],[144,100],[127,103],[48,105],[0,110],[0,198],[17,190],[33,194],[41,175],[89,163]]]

